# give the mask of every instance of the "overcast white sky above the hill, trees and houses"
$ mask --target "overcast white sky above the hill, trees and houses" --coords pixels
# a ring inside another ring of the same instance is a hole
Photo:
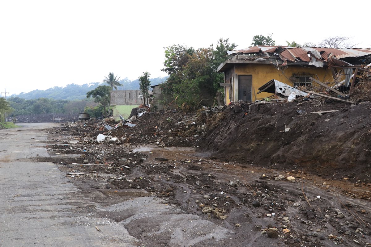
[[[13,94],[101,82],[109,72],[130,80],[144,71],[166,76],[163,47],[207,47],[220,37],[240,49],[268,33],[276,44],[348,36],[368,48],[369,6],[359,0],[0,0],[0,89]]]

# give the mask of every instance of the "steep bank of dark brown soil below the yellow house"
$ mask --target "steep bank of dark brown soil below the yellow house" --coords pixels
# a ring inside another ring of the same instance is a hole
[[[339,111],[321,116],[311,113],[326,110]],[[221,124],[198,142],[200,151],[260,167],[301,169],[318,176],[371,182],[370,103],[319,108],[295,103],[255,104],[239,113],[234,107],[224,112]],[[285,128],[290,129],[285,132]]]

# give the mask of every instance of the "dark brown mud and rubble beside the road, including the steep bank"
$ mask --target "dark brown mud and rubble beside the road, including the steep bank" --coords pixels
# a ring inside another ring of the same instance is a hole
[[[96,131],[98,122],[84,122],[79,127],[48,130],[46,148],[51,157],[37,160],[54,162],[66,173],[85,173],[66,176],[87,196],[103,191],[109,200],[94,196],[92,200],[104,205],[151,193],[234,232],[208,246],[359,246],[354,240],[365,246],[371,242],[371,186],[364,168],[369,159],[364,149],[371,149],[366,132],[371,127],[370,104],[338,106],[344,104],[320,109],[267,104],[250,110],[242,104],[240,110],[228,107],[209,116],[201,113],[196,126],[175,124],[179,113],[173,111],[145,114],[136,127],[112,131]],[[322,116],[310,113],[331,109],[340,111]],[[296,110],[306,113],[297,115]],[[213,117],[220,125],[209,127],[203,135],[200,125],[210,126]],[[290,131],[284,132],[285,124]],[[102,132],[124,140],[95,143],[92,137]],[[192,137],[188,142],[176,143],[188,137]],[[179,147],[196,142],[203,152]],[[353,152],[357,157],[350,155]],[[208,157],[210,153],[213,158]],[[122,167],[119,158],[127,158],[129,168]],[[293,176],[295,182],[275,181],[279,175]],[[227,218],[203,213],[205,207],[218,208]],[[337,217],[336,210],[344,218]],[[116,222],[127,217],[102,216]],[[162,235],[146,240],[145,226],[130,223],[125,227],[142,242],[148,241],[146,246],[170,244]],[[268,228],[277,228],[279,237],[270,238]],[[290,233],[284,233],[285,228]]]

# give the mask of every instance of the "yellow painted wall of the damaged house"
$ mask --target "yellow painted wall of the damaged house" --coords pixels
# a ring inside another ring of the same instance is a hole
[[[232,69],[233,68],[231,68],[231,70]],[[326,81],[332,77],[331,70],[327,68],[309,68],[303,66],[280,67],[278,70],[276,66],[270,64],[236,64],[234,70],[237,80],[239,75],[252,75],[252,101],[261,100],[272,95],[265,92],[257,94],[259,91],[258,88],[272,79],[293,86],[293,82],[290,81],[289,78],[295,75],[312,76],[317,79],[317,74],[320,81]],[[235,80],[235,82],[237,80]],[[237,101],[238,94],[236,95],[236,93],[234,93],[233,99]]]

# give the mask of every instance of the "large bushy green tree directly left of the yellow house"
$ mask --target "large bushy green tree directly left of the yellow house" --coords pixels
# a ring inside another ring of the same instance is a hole
[[[212,105],[213,98],[224,82],[224,76],[217,73],[217,67],[228,57],[226,51],[234,49],[228,39],[219,39],[214,48],[195,50],[183,45],[165,49],[165,69],[169,77],[161,84],[165,94],[177,99],[175,103],[184,109],[197,109],[200,105]]]

